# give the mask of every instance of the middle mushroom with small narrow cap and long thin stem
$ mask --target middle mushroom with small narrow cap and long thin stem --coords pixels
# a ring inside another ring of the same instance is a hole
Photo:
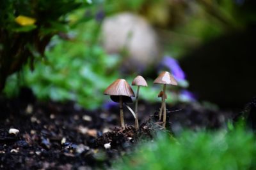
[[[132,85],[138,86],[137,88],[137,94],[136,94],[136,103],[135,103],[135,128],[138,130],[139,129],[139,120],[138,120],[138,98],[139,98],[139,92],[140,92],[140,87],[144,86],[147,87],[147,81],[143,78],[143,76],[136,76],[134,80],[132,81]]]

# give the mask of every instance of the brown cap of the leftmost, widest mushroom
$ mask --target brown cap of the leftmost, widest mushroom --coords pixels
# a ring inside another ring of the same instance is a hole
[[[124,79],[118,79],[111,83],[111,85],[104,91],[104,94],[110,96],[134,96],[131,86]]]

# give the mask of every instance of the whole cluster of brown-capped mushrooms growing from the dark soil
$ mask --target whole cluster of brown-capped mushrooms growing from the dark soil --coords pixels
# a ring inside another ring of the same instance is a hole
[[[163,127],[166,125],[166,103],[165,100],[167,99],[166,96],[166,85],[178,85],[175,78],[172,74],[168,73],[167,71],[162,72],[159,76],[154,80],[156,84],[163,84],[163,91],[159,92],[158,97],[161,97],[161,108],[159,111],[159,121],[162,120],[162,113],[163,113]],[[147,81],[143,78],[143,76],[136,76],[132,81],[132,85],[137,86],[136,92],[136,102],[135,102],[135,113],[126,103],[132,103],[132,98],[134,97],[134,92],[124,79],[118,79],[111,83],[109,87],[104,91],[104,94],[109,95],[112,101],[119,103],[120,108],[120,124],[121,127],[125,129],[125,122],[124,122],[124,110],[123,105],[127,106],[127,108],[131,111],[132,115],[135,118],[135,128],[139,129],[139,121],[138,121],[138,98],[140,93],[140,87],[147,87]]]

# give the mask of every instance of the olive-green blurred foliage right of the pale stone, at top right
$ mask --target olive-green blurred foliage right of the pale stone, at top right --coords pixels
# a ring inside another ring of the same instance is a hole
[[[156,27],[165,52],[176,58],[256,22],[253,0],[147,1],[138,11]]]

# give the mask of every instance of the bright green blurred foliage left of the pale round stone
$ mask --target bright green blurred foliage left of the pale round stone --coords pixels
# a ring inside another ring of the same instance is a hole
[[[114,80],[125,78],[131,83],[136,73],[124,77],[118,71],[122,56],[108,55],[100,46],[100,25],[105,13],[97,5],[70,13],[67,16],[70,20],[68,32],[61,32],[51,39],[45,57],[35,60],[33,72],[28,64],[20,73],[10,76],[5,94],[14,96],[19,92],[17,86],[27,86],[33,89],[38,99],[71,100],[87,109],[95,109],[109,101],[108,96],[102,97],[102,92]],[[111,6],[106,8],[111,9]],[[153,85],[152,80],[148,83]],[[157,98],[160,88],[141,89],[141,99],[161,101]],[[175,93],[168,93],[173,96],[170,101],[177,100]]]

